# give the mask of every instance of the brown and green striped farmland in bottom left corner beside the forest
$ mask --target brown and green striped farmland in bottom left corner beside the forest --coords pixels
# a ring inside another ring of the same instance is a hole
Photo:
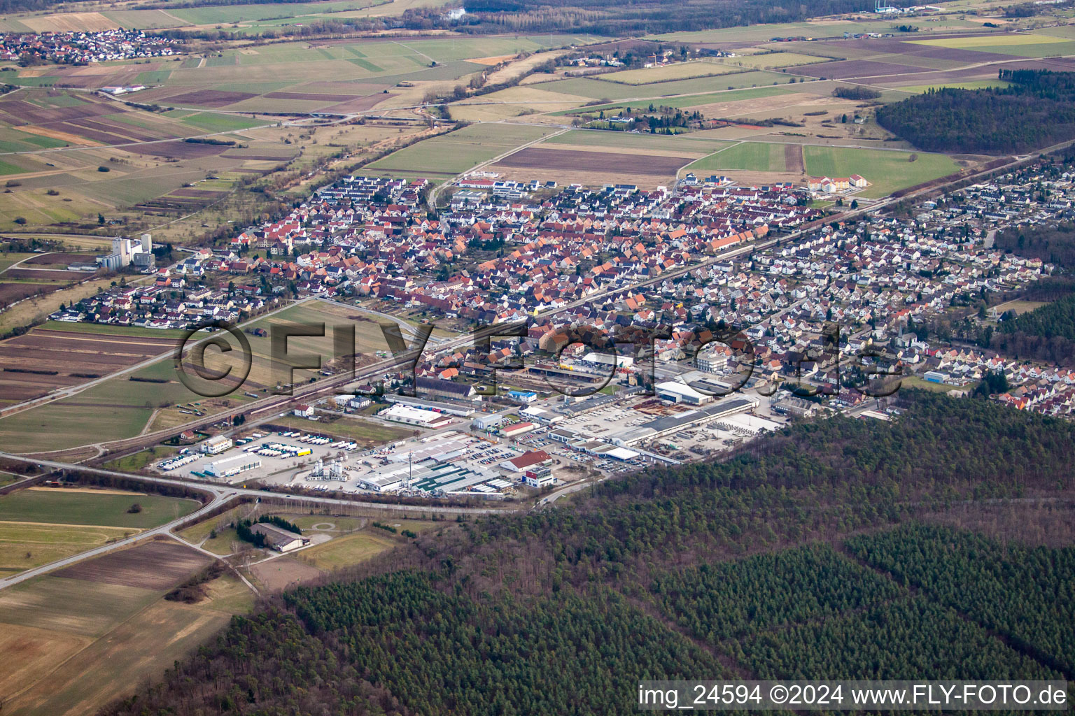
[[[14,657],[0,675],[4,710],[94,713],[206,643],[253,607],[229,575],[197,603],[162,599],[206,564],[175,542],[150,542],[0,591],[0,647]]]

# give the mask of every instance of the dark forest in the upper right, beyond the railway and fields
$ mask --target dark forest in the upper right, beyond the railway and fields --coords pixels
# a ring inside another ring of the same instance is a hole
[[[1075,138],[1075,73],[1001,70],[1004,88],[931,89],[877,109],[877,123],[919,149],[1026,152]]]

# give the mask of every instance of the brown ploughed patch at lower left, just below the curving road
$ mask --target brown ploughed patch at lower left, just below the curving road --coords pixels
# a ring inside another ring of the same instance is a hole
[[[143,542],[129,550],[77,562],[53,572],[53,576],[143,589],[170,589],[210,561],[205,555],[178,542]]]

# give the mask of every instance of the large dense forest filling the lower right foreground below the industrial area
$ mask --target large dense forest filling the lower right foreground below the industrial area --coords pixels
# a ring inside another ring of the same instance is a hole
[[[647,677],[1071,678],[1072,550],[928,521],[1070,495],[1075,425],[898,395],[893,422],[805,421],[444,525],[236,617],[102,714],[629,714]]]

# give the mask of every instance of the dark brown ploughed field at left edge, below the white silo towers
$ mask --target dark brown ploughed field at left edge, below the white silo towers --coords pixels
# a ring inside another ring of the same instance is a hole
[[[171,338],[95,336],[34,328],[26,335],[0,341],[0,397],[29,400],[57,388],[105,376],[173,348],[175,341]],[[30,370],[35,372],[27,372]],[[49,375],[53,370],[56,374]]]

